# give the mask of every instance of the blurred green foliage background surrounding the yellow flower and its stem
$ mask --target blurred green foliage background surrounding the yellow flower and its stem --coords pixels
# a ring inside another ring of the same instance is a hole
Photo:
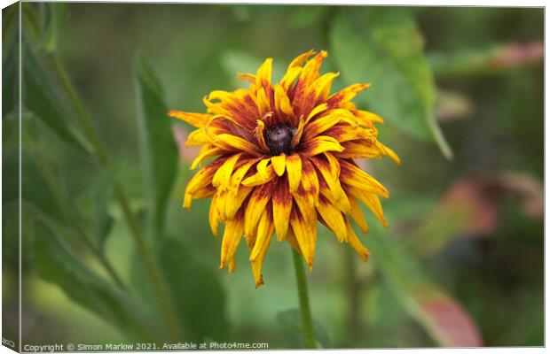
[[[4,337],[17,333],[16,15],[3,11]],[[367,263],[319,228],[318,342],[544,345],[542,8],[24,3],[23,22],[23,343],[301,348],[287,243],[271,244],[261,289],[242,245],[236,273],[217,269],[209,200],[180,206],[190,127],[162,112],[204,112],[211,90],[246,85],[235,73],[271,57],[277,79],[325,49],[334,89],[373,83],[356,102],[386,119],[381,141],[403,164],[361,162],[391,194],[388,229],[367,215]],[[166,341],[116,183],[178,324]]]

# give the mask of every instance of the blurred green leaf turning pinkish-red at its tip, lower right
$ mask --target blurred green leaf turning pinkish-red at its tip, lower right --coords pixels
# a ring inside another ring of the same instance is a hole
[[[481,346],[481,335],[468,312],[428,280],[402,244],[376,232],[377,228],[368,235],[371,259],[405,311],[442,346]]]

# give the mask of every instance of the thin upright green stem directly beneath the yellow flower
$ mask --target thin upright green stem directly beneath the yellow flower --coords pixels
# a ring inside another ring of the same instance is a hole
[[[302,313],[303,342],[306,348],[316,349],[317,341],[313,332],[313,320],[311,319],[310,296],[308,295],[308,282],[303,267],[302,255],[292,250],[292,258],[295,264],[296,286],[300,298],[300,312]]]

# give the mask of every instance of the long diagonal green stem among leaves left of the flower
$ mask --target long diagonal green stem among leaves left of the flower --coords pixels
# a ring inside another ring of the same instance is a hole
[[[93,127],[93,125],[91,124],[92,120],[90,118],[90,115],[88,114],[88,112],[86,112],[81,100],[76,95],[76,90],[68,77],[65,67],[54,53],[50,53],[49,58],[53,69],[59,77],[59,81],[63,86],[63,89],[65,89],[67,93],[70,103],[75,109],[76,116],[78,117],[78,119],[80,119],[80,122],[83,125],[85,135],[92,144],[93,152],[95,153],[96,158],[98,158],[99,165],[103,167],[108,166],[109,158],[106,154],[106,149],[101,143],[95,127]],[[154,262],[153,257],[151,256],[151,252],[147,246],[147,243],[145,242],[145,237],[141,233],[138,219],[136,219],[136,216],[131,211],[130,204],[128,203],[128,199],[124,194],[122,186],[118,183],[114,186],[114,196],[117,203],[122,209],[122,214],[124,215],[126,223],[130,228],[130,234],[132,236],[132,239],[136,243],[139,255],[145,263],[145,270],[151,283],[154,296],[156,297],[157,302],[160,305],[162,319],[169,331],[169,337],[173,341],[180,341],[181,337],[179,333],[179,326],[177,324],[177,319],[175,316],[176,312],[174,311],[172,302],[170,301],[168,287],[165,281],[163,281],[162,279],[161,271],[159,270],[158,266]]]

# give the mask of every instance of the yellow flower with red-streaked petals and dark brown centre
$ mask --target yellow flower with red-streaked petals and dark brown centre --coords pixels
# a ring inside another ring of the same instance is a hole
[[[256,287],[271,238],[286,240],[313,265],[317,224],[334,232],[366,260],[350,219],[368,232],[358,202],[386,226],[379,196],[388,190],[362,171],[354,158],[399,158],[377,140],[382,119],[350,101],[369,84],[330,95],[338,73],[319,74],[326,51],[295,58],[279,83],[271,83],[272,59],[257,73],[239,73],[248,89],[216,90],[204,98],[207,113],[169,112],[197,127],[186,145],[202,145],[192,169],[214,158],[189,181],[184,207],[211,196],[209,223],[218,235],[225,223],[221,266],[235,270],[235,250],[244,236]]]

